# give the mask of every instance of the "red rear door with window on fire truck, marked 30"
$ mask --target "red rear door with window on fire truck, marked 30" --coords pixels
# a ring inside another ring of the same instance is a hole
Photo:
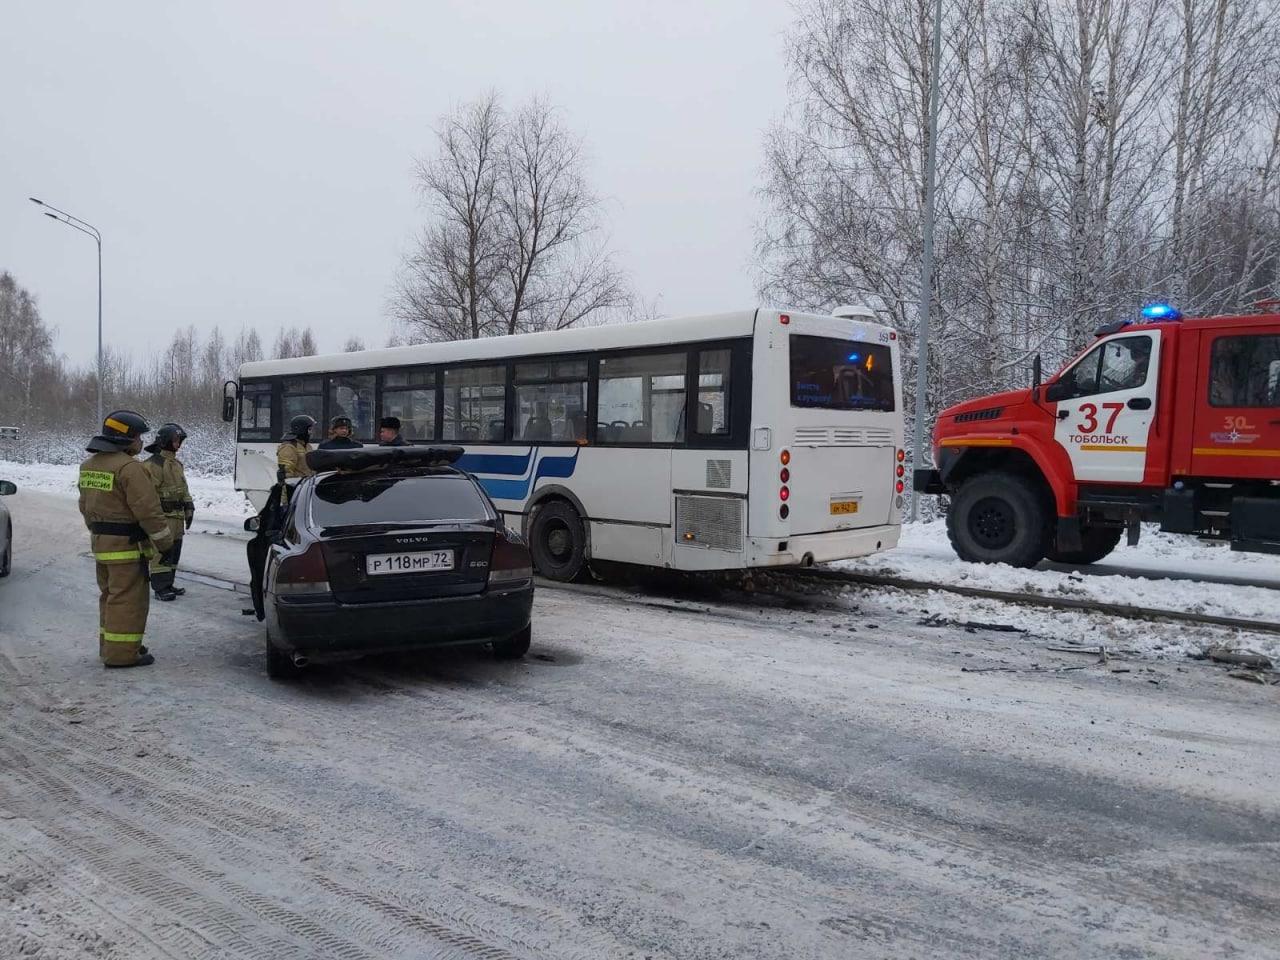
[[[1280,334],[1222,328],[1201,344],[1192,474],[1280,480]]]

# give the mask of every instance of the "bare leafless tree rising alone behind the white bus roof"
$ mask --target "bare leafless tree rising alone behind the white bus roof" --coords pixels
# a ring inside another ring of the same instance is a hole
[[[582,142],[550,104],[507,116],[490,93],[436,138],[416,168],[430,219],[392,302],[410,339],[562,329],[626,306]]]

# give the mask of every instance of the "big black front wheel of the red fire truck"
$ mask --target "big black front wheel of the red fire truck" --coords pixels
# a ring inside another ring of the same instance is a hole
[[[1044,559],[1051,517],[1039,493],[1012,474],[978,474],[951,498],[947,536],[960,559],[1034,567]]]

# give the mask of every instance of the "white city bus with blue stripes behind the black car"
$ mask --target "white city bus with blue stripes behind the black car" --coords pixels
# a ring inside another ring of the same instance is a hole
[[[591,559],[776,567],[897,544],[897,334],[869,311],[749,310],[244,364],[236,488],[261,506],[298,413],[465,448],[540,572]],[[236,407],[238,404],[238,416]]]

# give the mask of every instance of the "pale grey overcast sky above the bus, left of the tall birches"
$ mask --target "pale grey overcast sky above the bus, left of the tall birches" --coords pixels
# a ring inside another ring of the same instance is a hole
[[[145,353],[174,326],[381,343],[422,211],[415,155],[486,88],[586,138],[618,262],[666,314],[754,301],[762,138],[785,104],[780,0],[52,3],[0,19],[0,270],[59,346]]]

